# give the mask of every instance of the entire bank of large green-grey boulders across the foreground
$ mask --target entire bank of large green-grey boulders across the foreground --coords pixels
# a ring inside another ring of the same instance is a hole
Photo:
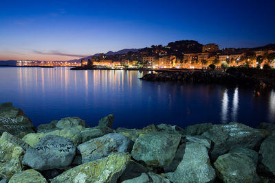
[[[113,130],[67,117],[37,128],[0,104],[0,182],[274,182],[275,125]]]

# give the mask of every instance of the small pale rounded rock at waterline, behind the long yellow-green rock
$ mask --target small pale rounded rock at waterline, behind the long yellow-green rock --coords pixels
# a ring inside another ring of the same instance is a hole
[[[56,123],[56,127],[60,129],[63,129],[66,127],[76,127],[78,125],[81,125],[83,127],[88,127],[85,121],[83,119],[80,119],[79,117],[66,117]]]

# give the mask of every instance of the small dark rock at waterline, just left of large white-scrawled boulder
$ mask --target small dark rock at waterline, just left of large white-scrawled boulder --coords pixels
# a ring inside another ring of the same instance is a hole
[[[212,123],[201,123],[197,125],[190,125],[184,128],[186,135],[201,135],[212,127]]]

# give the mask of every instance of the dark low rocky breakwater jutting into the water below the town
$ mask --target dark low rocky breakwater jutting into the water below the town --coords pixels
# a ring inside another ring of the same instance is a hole
[[[248,75],[218,71],[163,71],[144,75],[141,80],[151,82],[239,84],[242,86],[262,87],[263,82]]]

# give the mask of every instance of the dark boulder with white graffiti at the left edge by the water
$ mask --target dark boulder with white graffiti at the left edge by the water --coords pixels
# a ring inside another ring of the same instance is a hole
[[[25,116],[23,110],[15,108],[12,103],[0,104],[0,134],[20,134],[21,132],[32,133],[36,129],[32,121]]]

